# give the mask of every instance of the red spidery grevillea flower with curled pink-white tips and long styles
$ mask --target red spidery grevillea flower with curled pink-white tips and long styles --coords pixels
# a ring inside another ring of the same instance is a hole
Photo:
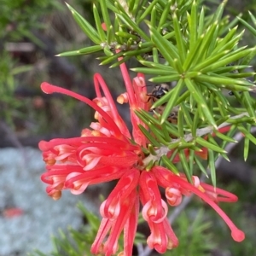
[[[166,218],[166,202],[175,207],[181,203],[183,195],[191,194],[199,196],[218,212],[230,227],[233,239],[242,241],[244,233],[236,228],[217,204],[219,201],[236,201],[236,195],[201,183],[198,177],[193,177],[193,183],[189,183],[183,174],[178,176],[162,166],[153,166],[149,170],[144,166],[143,160],[147,156],[143,148],[148,147],[148,141],[139,125],[145,129],[147,126],[138,119],[135,110],[148,111],[150,107],[145,82],[143,74],[137,74],[131,81],[125,64],[120,68],[126,92],[119,96],[118,102],[130,104],[132,135],[119,116],[101,75],[96,73],[94,76],[96,99],[93,101],[48,83],[41,85],[45,93],[67,94],[90,105],[96,111],[97,120],[91,123],[90,129],[82,131],[81,137],[57,138],[39,143],[46,163],[47,172],[42,175],[42,180],[48,184],[48,195],[57,200],[63,189],[78,195],[91,184],[118,180],[100,208],[102,224],[91,247],[91,253],[95,254],[108,256],[116,253],[120,233],[124,231],[124,251],[119,255],[132,255],[140,202],[143,205],[143,218],[151,231],[148,247],[159,253],[177,247],[177,237]],[[184,153],[188,155],[189,151],[184,150]],[[167,154],[170,155],[172,151]],[[201,157],[207,158],[206,148],[203,148]],[[173,162],[177,161],[174,158]],[[166,189],[166,201],[161,198],[159,187]]]

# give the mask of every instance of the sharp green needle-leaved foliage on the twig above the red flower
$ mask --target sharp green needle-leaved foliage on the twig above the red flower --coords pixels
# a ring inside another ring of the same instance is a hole
[[[236,131],[243,132],[246,137],[245,159],[248,142],[256,143],[250,135],[256,118],[255,99],[249,93],[255,90],[255,85],[247,79],[255,74],[249,69],[249,62],[256,47],[238,46],[243,32],[238,32],[236,23],[241,18],[230,22],[223,17],[226,3],[221,3],[214,15],[207,15],[198,1],[99,0],[93,5],[94,25],[67,4],[74,19],[95,45],[60,54],[99,52],[103,54],[98,58],[101,64],[113,63],[110,67],[136,58],[139,67],[131,68],[132,71],[148,74],[149,80],[156,84],[172,83],[173,89],[152,106],[165,105],[159,119],[145,112],[137,113],[150,128],[148,133],[141,127],[152,146],[162,147],[145,162],[152,163],[153,159],[165,156],[166,150],[173,148],[191,180],[192,163],[200,165],[195,151],[207,147],[207,166],[213,184],[216,184],[214,161],[218,154],[228,160],[223,148],[226,143],[234,142],[232,135]],[[143,8],[138,9],[138,6]],[[248,25],[247,28],[255,32]],[[228,95],[228,90],[233,96]],[[173,125],[166,119],[177,106],[178,123]],[[161,130],[154,129],[159,126]],[[224,126],[231,126],[226,135],[218,131]],[[212,132],[216,137],[210,135]],[[170,133],[177,139],[170,138]],[[207,138],[203,139],[202,136],[206,135]],[[189,164],[185,160],[184,148],[189,148]],[[172,160],[166,157],[162,160],[173,166]],[[207,173],[207,166],[200,166],[201,171]]]

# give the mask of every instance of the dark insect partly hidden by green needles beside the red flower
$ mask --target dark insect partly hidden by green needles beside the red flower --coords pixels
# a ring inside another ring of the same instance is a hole
[[[149,96],[148,100],[151,100],[152,102],[156,102],[162,96],[165,96],[169,90],[170,90],[170,85],[168,84],[156,84],[154,85],[154,89],[151,91],[151,93],[148,94]],[[166,108],[166,103],[160,105],[159,107],[154,108],[154,111],[162,114],[165,108]],[[172,113],[170,113],[167,118],[167,120],[172,124],[177,124],[177,111],[178,111],[177,107],[173,108]]]

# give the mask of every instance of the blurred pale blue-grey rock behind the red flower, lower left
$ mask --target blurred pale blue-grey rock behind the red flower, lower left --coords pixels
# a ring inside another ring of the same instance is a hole
[[[76,204],[84,196],[64,191],[59,201],[52,200],[40,179],[44,171],[37,149],[0,150],[0,256],[26,255],[34,249],[49,253],[50,236],[58,235],[59,229],[67,230],[67,226],[79,229],[82,224]],[[11,207],[23,213],[5,217],[4,210]]]

